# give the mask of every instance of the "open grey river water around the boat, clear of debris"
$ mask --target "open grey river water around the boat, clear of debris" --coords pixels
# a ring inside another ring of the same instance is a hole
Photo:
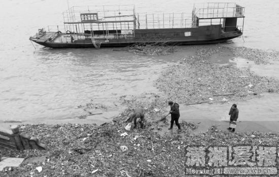
[[[194,3],[207,1],[68,0],[70,7],[132,4],[136,12],[147,13],[191,12]],[[246,7],[243,38],[225,45],[279,50],[277,1],[236,3]],[[0,122],[55,122],[83,114],[78,105],[90,101],[113,105],[125,94],[157,92],[153,81],[162,69],[182,57],[138,56],[112,48],[58,50],[36,45],[34,49],[29,36],[47,25],[61,25],[61,13],[68,4],[66,0],[1,3]],[[120,108],[115,109],[117,114]]]

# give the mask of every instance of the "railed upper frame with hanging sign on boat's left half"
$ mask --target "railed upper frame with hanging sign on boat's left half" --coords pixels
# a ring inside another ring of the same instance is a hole
[[[133,30],[134,6],[75,6],[63,13],[65,30]]]

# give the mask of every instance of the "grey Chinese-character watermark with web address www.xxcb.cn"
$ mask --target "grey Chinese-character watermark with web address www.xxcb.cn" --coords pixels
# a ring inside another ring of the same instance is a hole
[[[185,149],[185,174],[276,175],[276,147],[189,146]]]

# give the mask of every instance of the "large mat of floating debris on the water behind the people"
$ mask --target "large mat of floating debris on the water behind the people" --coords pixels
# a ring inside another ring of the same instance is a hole
[[[255,75],[250,69],[219,65],[206,60],[222,48],[198,49],[196,56],[183,58],[163,71],[156,81],[168,99],[188,104],[224,103],[263,92],[277,92],[277,80]],[[224,99],[225,98],[225,99]]]

